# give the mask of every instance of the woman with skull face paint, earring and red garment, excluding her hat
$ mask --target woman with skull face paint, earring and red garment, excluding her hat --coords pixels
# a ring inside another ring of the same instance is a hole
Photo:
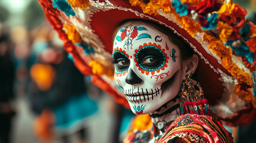
[[[193,54],[187,43],[182,42],[178,36],[164,27],[161,27],[161,31],[157,30],[160,27],[149,21],[131,20],[122,24],[114,36],[112,57],[115,63],[115,82],[123,89],[133,113],[150,114],[154,131],[152,135],[151,130],[134,132],[125,142],[193,142],[191,136],[197,136],[202,142],[210,142],[214,139],[217,141],[217,138],[232,142],[231,136],[221,123],[212,119],[214,116],[205,116],[206,112],[199,113],[200,109],[197,106],[199,100],[194,100],[195,106],[189,106],[191,109],[196,107],[197,110],[194,109],[191,114],[181,116],[179,104],[183,104],[182,94],[186,96],[185,91],[181,91],[182,81],[192,82],[188,75],[191,76],[196,71],[199,58]],[[143,30],[136,32],[136,29]],[[130,36],[133,33],[138,33],[136,34],[138,36],[133,38]],[[125,38],[121,38],[124,34]],[[200,89],[196,89],[193,85],[188,87],[183,85],[183,88],[194,88],[187,91],[191,94],[187,97],[202,98],[202,95],[196,93],[200,92]],[[178,96],[180,91],[181,95]],[[198,122],[202,118],[217,123],[218,128],[220,126],[221,128],[217,129],[208,122]],[[208,126],[208,129],[203,126]],[[179,129],[182,131],[172,131]],[[207,136],[208,132],[216,132],[218,135]],[[221,132],[224,135],[219,136]],[[205,135],[202,136],[203,134]]]

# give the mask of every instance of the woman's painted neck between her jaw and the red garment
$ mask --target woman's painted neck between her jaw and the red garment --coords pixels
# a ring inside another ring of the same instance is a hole
[[[161,135],[166,131],[166,127],[169,126],[176,117],[179,116],[179,99],[178,96],[161,106],[159,109],[150,113],[150,117],[154,124],[157,134]]]

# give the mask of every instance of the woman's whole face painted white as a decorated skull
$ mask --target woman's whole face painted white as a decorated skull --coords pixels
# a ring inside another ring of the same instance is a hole
[[[114,79],[133,113],[152,113],[176,97],[181,86],[181,56],[166,35],[145,23],[127,23],[115,35]]]

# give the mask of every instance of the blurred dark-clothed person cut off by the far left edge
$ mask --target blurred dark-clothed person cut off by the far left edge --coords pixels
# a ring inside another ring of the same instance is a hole
[[[11,125],[15,115],[11,101],[13,94],[14,63],[8,27],[0,26],[0,142],[11,142]]]

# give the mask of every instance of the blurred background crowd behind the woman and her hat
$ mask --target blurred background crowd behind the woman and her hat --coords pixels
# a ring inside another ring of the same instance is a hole
[[[256,0],[234,2],[255,23]],[[36,0],[0,1],[0,143],[124,138],[133,114],[92,85],[72,60]],[[230,128],[236,142],[255,136],[252,129],[256,123]]]

